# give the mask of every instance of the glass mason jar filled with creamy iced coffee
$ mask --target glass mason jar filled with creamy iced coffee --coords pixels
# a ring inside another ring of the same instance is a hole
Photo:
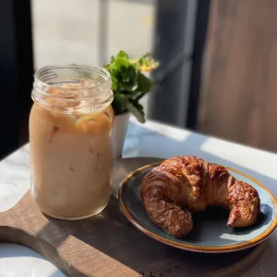
[[[101,212],[111,195],[113,92],[108,71],[49,66],[35,73],[29,116],[31,193],[55,218]]]

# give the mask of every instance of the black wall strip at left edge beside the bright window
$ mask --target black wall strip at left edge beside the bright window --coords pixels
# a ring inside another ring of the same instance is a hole
[[[33,78],[29,1],[0,1],[0,62],[1,159],[28,139]]]

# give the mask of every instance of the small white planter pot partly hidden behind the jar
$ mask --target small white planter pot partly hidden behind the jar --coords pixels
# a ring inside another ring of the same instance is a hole
[[[128,129],[130,113],[122,113],[114,116],[113,127],[113,158],[117,159],[122,155],[122,149],[126,132]]]

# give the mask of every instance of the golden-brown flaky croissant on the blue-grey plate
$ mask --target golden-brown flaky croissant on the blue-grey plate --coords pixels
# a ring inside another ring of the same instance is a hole
[[[256,222],[260,198],[256,189],[236,180],[225,167],[196,156],[175,156],[147,172],[140,195],[149,218],[167,233],[183,238],[192,231],[191,213],[207,206],[231,211],[228,227]]]

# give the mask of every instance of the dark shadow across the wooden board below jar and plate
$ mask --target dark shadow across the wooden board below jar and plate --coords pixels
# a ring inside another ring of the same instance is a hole
[[[192,253],[166,246],[130,225],[115,197],[111,198],[101,214],[90,219],[79,222],[63,222],[50,217],[47,219],[49,223],[40,233],[47,236],[51,236],[51,232],[53,236],[55,233],[63,234],[55,239],[56,248],[68,236],[73,236],[120,264],[125,264],[138,273],[145,273],[145,276],[151,276],[150,273],[154,276],[207,276],[207,273],[216,273],[235,264],[255,250],[249,248],[238,253],[218,255]],[[90,250],[86,253],[92,259],[94,255]],[[253,257],[249,259],[250,262],[254,260]]]

